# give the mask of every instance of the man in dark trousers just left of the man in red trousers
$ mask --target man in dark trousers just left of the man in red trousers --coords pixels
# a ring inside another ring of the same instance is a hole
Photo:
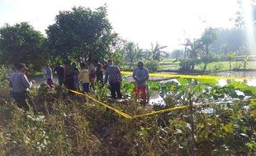
[[[112,99],[121,99],[121,71],[120,68],[115,66],[112,60],[108,60],[108,67],[105,74],[105,83],[110,85],[111,98]],[[117,97],[116,97],[117,94]]]

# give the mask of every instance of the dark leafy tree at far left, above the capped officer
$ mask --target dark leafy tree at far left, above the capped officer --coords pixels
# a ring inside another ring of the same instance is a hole
[[[48,57],[44,35],[27,22],[3,26],[0,29],[0,48],[0,62],[4,65],[24,62],[38,71]]]

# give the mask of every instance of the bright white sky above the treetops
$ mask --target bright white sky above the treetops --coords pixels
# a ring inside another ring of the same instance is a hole
[[[123,39],[151,48],[151,43],[182,48],[185,38],[197,39],[205,28],[230,28],[236,0],[0,0],[0,27],[28,21],[45,34],[59,11],[95,9],[107,4],[113,30]]]

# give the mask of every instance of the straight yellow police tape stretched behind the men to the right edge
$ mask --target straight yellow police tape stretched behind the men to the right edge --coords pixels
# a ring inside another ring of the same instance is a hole
[[[125,76],[132,75],[130,71],[121,71],[121,74]],[[163,78],[187,78],[187,79],[229,79],[229,80],[256,80],[256,78],[249,78],[249,77],[232,77],[232,76],[192,76],[192,75],[181,75],[181,74],[168,74],[168,73],[149,73],[149,76],[153,77],[163,77]]]

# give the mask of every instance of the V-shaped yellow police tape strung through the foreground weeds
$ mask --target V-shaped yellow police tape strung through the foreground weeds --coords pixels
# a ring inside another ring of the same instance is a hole
[[[154,115],[154,114],[159,114],[159,113],[163,113],[163,112],[171,112],[171,111],[174,111],[174,110],[185,109],[185,108],[189,107],[189,106],[177,106],[177,107],[173,107],[173,108],[165,108],[165,109],[162,109],[162,110],[159,110],[159,111],[148,112],[148,113],[145,113],[145,114],[136,115],[134,117],[131,117],[130,115],[126,114],[126,112],[121,112],[120,110],[118,110],[116,108],[112,108],[111,106],[107,105],[106,103],[102,103],[102,102],[98,101],[97,99],[92,98],[92,96],[90,96],[88,94],[83,94],[83,93],[80,93],[80,92],[72,90],[72,89],[68,89],[68,90],[73,92],[74,94],[80,94],[80,95],[83,95],[85,97],[88,97],[88,99],[92,99],[92,101],[97,102],[97,103],[101,104],[102,106],[104,106],[105,108],[109,108],[112,111],[116,112],[117,114],[121,115],[122,117],[126,117],[126,118],[129,118],[129,119],[151,116],[151,115]],[[256,101],[256,99],[247,99],[247,100]]]

